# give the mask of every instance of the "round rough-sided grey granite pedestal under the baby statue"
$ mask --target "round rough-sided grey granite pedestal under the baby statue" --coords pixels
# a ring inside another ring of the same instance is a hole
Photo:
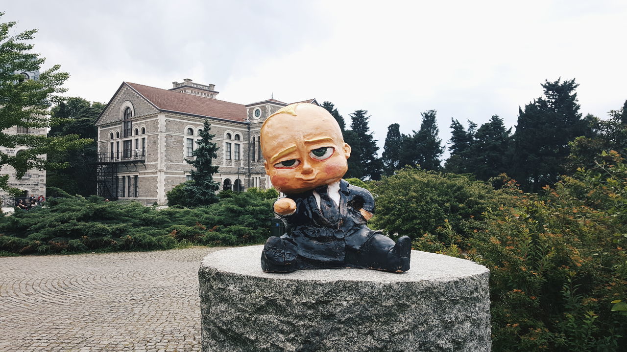
[[[209,351],[490,351],[489,271],[411,252],[401,274],[261,271],[263,246],[213,252],[199,269]]]

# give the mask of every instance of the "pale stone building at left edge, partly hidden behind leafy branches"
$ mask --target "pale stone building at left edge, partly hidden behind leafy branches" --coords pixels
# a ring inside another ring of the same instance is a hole
[[[27,80],[38,80],[39,71],[20,72]],[[48,134],[47,127],[41,128],[29,128],[29,127],[9,127],[3,131],[8,135],[46,135]],[[15,148],[0,147],[0,152],[3,152],[8,157],[14,157],[19,153],[27,150],[29,147],[26,145],[18,145]],[[38,155],[38,157],[45,159],[46,155]],[[34,195],[38,197],[40,195],[46,196],[46,170],[32,169],[26,172],[26,175],[21,180],[16,178],[15,169],[11,165],[3,165],[0,168],[0,175],[9,175],[9,187],[15,187],[24,191],[24,197]],[[0,197],[8,199],[9,195],[6,191],[0,189]],[[6,204],[9,205],[9,204]],[[13,205],[13,204],[11,204]]]

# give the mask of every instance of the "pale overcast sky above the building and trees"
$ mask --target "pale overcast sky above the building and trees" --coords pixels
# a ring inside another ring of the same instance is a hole
[[[514,127],[540,83],[576,78],[581,112],[627,99],[627,1],[10,1],[1,21],[38,29],[68,95],[107,102],[122,81],[213,83],[235,103],[317,98],[418,130],[438,110]]]

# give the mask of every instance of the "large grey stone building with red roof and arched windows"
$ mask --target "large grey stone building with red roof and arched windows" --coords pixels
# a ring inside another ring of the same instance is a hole
[[[217,95],[214,85],[189,79],[173,82],[169,90],[123,82],[95,122],[98,195],[166,204],[166,192],[191,179],[186,160],[205,119],[219,148],[214,180],[223,189],[271,187],[259,132],[263,121],[288,103],[270,99],[242,105]]]

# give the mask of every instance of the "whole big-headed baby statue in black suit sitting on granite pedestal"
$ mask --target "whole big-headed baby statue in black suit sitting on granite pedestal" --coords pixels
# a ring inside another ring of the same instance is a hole
[[[272,185],[285,194],[274,203],[274,212],[287,230],[266,241],[263,271],[409,270],[409,237],[394,243],[369,229],[372,194],[342,180],[350,145],[327,110],[310,103],[278,110],[261,127],[261,150]]]

